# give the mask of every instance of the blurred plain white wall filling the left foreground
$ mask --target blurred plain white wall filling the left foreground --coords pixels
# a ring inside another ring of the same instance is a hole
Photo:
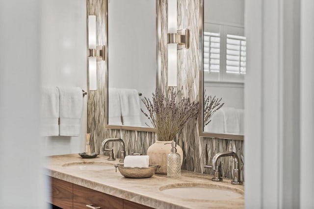
[[[0,208],[45,209],[41,0],[0,1]]]

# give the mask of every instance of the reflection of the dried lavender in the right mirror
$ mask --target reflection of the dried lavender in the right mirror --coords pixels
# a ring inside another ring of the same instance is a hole
[[[205,94],[204,98],[204,126],[206,126],[211,121],[210,117],[225,103],[220,104],[222,98],[218,99],[216,96],[211,97]]]

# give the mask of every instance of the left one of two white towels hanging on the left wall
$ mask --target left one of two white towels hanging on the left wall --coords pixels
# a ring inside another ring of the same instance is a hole
[[[43,87],[41,98],[41,134],[59,135],[59,92],[56,87]]]

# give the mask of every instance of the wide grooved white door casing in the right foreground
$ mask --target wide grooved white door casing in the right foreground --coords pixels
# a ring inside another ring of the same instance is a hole
[[[303,20],[300,5],[307,15]],[[308,19],[313,17],[313,8],[312,0],[301,4],[299,0],[245,1],[247,209],[314,206],[314,45],[313,18]],[[309,54],[303,57],[300,51]],[[304,66],[300,67],[300,59]]]

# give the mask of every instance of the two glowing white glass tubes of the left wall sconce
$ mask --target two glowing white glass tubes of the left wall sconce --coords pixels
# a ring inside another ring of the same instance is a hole
[[[96,15],[88,16],[88,76],[89,90],[97,90],[97,60],[96,60]]]

